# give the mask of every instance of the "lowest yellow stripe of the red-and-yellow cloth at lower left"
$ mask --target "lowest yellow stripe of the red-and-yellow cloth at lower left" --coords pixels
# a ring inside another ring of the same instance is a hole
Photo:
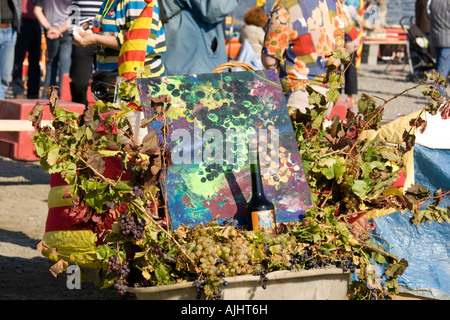
[[[97,260],[97,236],[90,230],[70,230],[46,232],[42,239],[49,249],[43,249],[42,255],[49,260],[63,259],[69,264],[85,268],[100,268]],[[57,255],[52,254],[52,248]]]

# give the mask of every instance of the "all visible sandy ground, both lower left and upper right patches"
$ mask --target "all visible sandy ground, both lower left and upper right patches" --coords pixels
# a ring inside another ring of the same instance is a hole
[[[414,86],[406,80],[409,68],[402,65],[361,65],[359,89],[382,99]],[[378,98],[377,98],[378,99]],[[385,118],[393,119],[421,109],[426,103],[420,90],[390,102]],[[83,283],[80,290],[68,289],[66,274],[54,277],[52,265],[36,250],[45,230],[49,175],[38,162],[0,157],[0,300],[104,300],[120,299],[109,289]]]

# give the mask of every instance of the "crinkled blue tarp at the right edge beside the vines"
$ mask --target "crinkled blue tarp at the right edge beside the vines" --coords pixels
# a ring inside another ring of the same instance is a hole
[[[450,149],[414,147],[414,179],[432,193],[450,190]],[[450,204],[446,204],[450,205]],[[399,277],[402,292],[450,299],[450,223],[412,225],[411,213],[395,212],[375,218],[374,234],[387,240],[387,248],[408,261]]]

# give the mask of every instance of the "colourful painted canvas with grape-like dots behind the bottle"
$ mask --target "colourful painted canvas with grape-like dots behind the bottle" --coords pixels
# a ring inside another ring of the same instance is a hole
[[[149,130],[170,123],[166,186],[174,228],[217,216],[246,224],[252,150],[259,151],[277,221],[297,220],[314,207],[276,72],[140,78],[137,85],[147,118],[155,116],[151,99],[170,97],[164,119]]]

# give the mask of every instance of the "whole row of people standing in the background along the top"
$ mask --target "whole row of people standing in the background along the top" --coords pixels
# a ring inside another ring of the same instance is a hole
[[[238,60],[257,70],[276,69],[287,98],[307,84],[321,90],[328,51],[344,46],[353,54],[368,14],[375,12],[377,27],[385,26],[387,1],[278,0],[266,8],[266,1],[257,0],[244,14]],[[56,86],[60,97],[88,105],[96,73],[120,74],[118,64],[128,57],[120,57],[127,32],[146,7],[152,22],[141,59],[151,75],[210,73],[229,60],[224,20],[238,5],[239,0],[1,0],[0,99],[46,98],[43,89]],[[416,19],[430,34],[446,74],[449,7],[445,0],[416,4]],[[337,20],[331,26],[317,14]],[[357,92],[352,57],[345,66],[350,102]]]

